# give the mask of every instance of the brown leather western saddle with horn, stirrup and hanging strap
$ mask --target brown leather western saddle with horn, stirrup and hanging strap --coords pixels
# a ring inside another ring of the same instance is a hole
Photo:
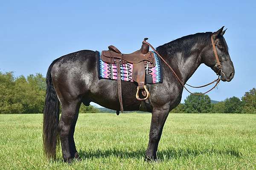
[[[133,64],[132,80],[137,82],[136,99],[143,101],[150,96],[146,83],[145,83],[145,68],[154,67],[156,65],[154,59],[154,53],[149,51],[149,45],[145,44],[148,38],[144,38],[140,50],[137,50],[131,54],[122,54],[115,46],[108,46],[108,51],[102,51],[101,59],[104,62],[115,63],[117,68],[117,86],[118,97],[120,102],[120,110],[123,112],[122,106],[122,84],[121,84],[121,70],[120,64],[126,63]],[[139,92],[141,91],[144,98],[140,98]],[[119,113],[119,111],[117,111]]]

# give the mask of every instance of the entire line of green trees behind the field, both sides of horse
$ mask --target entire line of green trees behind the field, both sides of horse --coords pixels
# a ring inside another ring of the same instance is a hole
[[[0,114],[43,113],[46,92],[42,74],[15,77],[13,72],[0,72]],[[198,93],[199,94],[199,93]],[[99,113],[93,106],[81,105],[80,113]],[[172,113],[256,113],[256,89],[246,92],[241,100],[231,97],[212,103],[208,95],[189,95]]]

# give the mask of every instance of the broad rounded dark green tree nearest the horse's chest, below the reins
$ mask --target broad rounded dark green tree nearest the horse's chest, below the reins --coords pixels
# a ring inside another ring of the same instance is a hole
[[[195,93],[201,94],[201,93]],[[193,95],[190,94],[184,100],[184,110],[186,113],[211,113],[211,99],[208,95]]]

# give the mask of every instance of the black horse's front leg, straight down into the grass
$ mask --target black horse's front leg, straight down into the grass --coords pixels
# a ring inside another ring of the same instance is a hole
[[[157,159],[157,147],[163,131],[163,125],[166,122],[168,114],[169,105],[162,108],[153,108],[145,160]]]

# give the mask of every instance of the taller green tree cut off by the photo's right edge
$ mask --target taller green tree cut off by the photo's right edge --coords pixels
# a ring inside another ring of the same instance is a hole
[[[242,113],[256,113],[256,88],[245,92],[242,97]]]

